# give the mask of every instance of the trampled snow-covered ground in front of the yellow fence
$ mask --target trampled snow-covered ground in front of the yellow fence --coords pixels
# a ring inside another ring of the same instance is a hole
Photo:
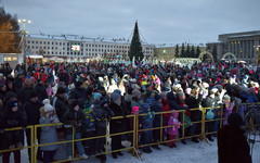
[[[202,141],[199,143],[194,143],[191,140],[186,140],[187,145],[183,145],[177,141],[177,148],[168,148],[160,146],[161,150],[153,149],[153,152],[147,154],[143,153],[143,161],[138,160],[132,156],[127,151],[122,151],[123,155],[118,156],[118,159],[113,159],[110,154],[107,154],[107,163],[218,163],[218,147],[217,138],[213,142],[206,143]],[[129,147],[128,141],[122,143]],[[109,145],[108,145],[109,147]],[[58,151],[55,155],[56,160],[66,159],[66,152],[64,146],[60,146]],[[1,161],[0,161],[1,162]],[[27,150],[22,151],[22,163],[27,163]],[[87,160],[74,161],[74,163],[100,163],[100,160],[91,156]],[[260,143],[256,143],[252,153],[252,163],[260,162]],[[11,163],[13,163],[13,156],[11,155]],[[40,163],[40,162],[38,162]]]

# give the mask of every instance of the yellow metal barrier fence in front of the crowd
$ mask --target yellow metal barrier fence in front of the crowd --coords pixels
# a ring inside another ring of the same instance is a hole
[[[260,105],[260,103],[255,103],[255,104],[258,104]],[[252,104],[248,104],[248,105],[252,105]],[[191,109],[190,111],[193,112],[193,111],[198,111],[202,113],[202,117],[200,117],[200,121],[197,121],[197,122],[192,122],[193,124],[200,124],[202,127],[200,127],[200,133],[197,134],[197,135],[190,135],[190,136],[186,136],[185,135],[185,117],[184,117],[184,114],[185,114],[185,110],[178,110],[178,111],[167,111],[167,112],[156,112],[155,115],[159,115],[160,116],[160,126],[159,127],[152,127],[152,128],[146,128],[146,129],[142,129],[140,128],[139,126],[139,121],[140,118],[142,118],[142,116],[146,116],[146,114],[134,114],[134,115],[127,115],[127,116],[116,116],[116,117],[112,117],[112,120],[123,120],[123,118],[131,118],[132,121],[132,130],[127,130],[127,131],[121,131],[121,133],[115,133],[115,134],[109,134],[108,131],[108,120],[106,118],[105,122],[106,122],[106,133],[105,135],[102,135],[102,136],[95,136],[95,137],[88,137],[88,138],[81,138],[81,139],[75,139],[75,135],[74,135],[74,131],[75,131],[75,127],[73,126],[73,139],[72,140],[61,140],[61,141],[57,141],[57,142],[53,142],[53,143],[44,143],[44,145],[38,145],[37,143],[37,131],[39,130],[39,128],[41,127],[47,127],[47,126],[62,126],[64,125],[63,123],[58,123],[58,124],[42,124],[42,125],[35,125],[35,126],[28,126],[27,129],[30,129],[30,137],[31,137],[31,141],[30,141],[30,146],[27,146],[27,147],[23,147],[23,148],[16,148],[16,149],[6,149],[6,150],[0,150],[0,152],[10,152],[10,151],[15,151],[15,150],[23,150],[23,149],[31,149],[30,150],[30,158],[31,158],[31,163],[36,163],[37,162],[37,148],[40,148],[40,147],[44,147],[44,146],[51,146],[51,145],[63,145],[63,143],[73,143],[73,147],[72,147],[72,151],[73,151],[73,158],[70,161],[75,161],[75,160],[79,160],[80,158],[75,158],[75,145],[74,142],[77,142],[77,141],[86,141],[86,140],[94,140],[94,139],[99,139],[99,138],[105,138],[105,151],[102,152],[102,153],[98,153],[98,154],[107,154],[107,153],[113,153],[113,152],[119,152],[119,151],[123,151],[123,150],[130,150],[131,153],[135,156],[140,156],[140,152],[139,152],[139,149],[140,148],[143,148],[143,147],[147,147],[147,146],[154,146],[154,145],[160,145],[160,143],[168,143],[168,142],[171,142],[171,141],[178,141],[178,140],[183,140],[183,139],[188,139],[188,138],[193,138],[193,137],[198,137],[200,138],[200,140],[204,140],[206,142],[208,142],[207,140],[207,135],[209,134],[217,134],[217,130],[211,130],[211,131],[207,131],[205,128],[206,128],[206,124],[207,123],[211,123],[211,122],[219,122],[219,127],[222,127],[222,121],[223,120],[226,120],[227,117],[223,117],[223,106],[217,106],[217,108],[213,108],[212,110],[214,111],[216,116],[212,120],[207,120],[206,118],[206,113],[208,112],[208,110],[210,110],[212,108],[198,108],[198,109]],[[164,139],[164,130],[166,130],[167,128],[169,127],[173,127],[173,126],[177,126],[177,125],[171,125],[171,126],[168,126],[168,125],[165,125],[164,122],[162,122],[162,118],[164,118],[164,114],[170,114],[170,113],[173,113],[173,112],[179,112],[179,116],[182,116],[182,122],[181,122],[181,125],[180,127],[182,128],[181,131],[181,137],[179,138],[176,138],[176,139],[172,139],[172,140],[165,140]],[[236,112],[238,112],[238,110],[236,109]],[[113,126],[110,126],[113,127]],[[22,127],[17,127],[17,128],[6,128],[5,131],[10,131],[10,130],[17,130],[17,129],[22,129]],[[38,130],[37,130],[38,129]],[[143,131],[146,131],[146,130],[155,130],[155,129],[159,129],[159,141],[157,142],[151,142],[151,143],[147,143],[147,145],[140,145],[139,142],[139,136],[143,133]],[[117,135],[127,135],[127,134],[130,134],[132,136],[132,146],[130,147],[126,147],[126,148],[122,148],[122,149],[118,149],[118,150],[108,150],[108,137],[112,137],[112,136],[117,136]],[[38,140],[39,141],[39,140]],[[61,160],[61,161],[55,161],[55,162],[67,162],[68,160]]]

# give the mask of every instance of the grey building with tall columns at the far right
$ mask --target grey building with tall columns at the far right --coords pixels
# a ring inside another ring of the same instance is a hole
[[[210,51],[213,47],[219,59],[229,53],[230,58],[234,54],[236,60],[259,64],[260,30],[219,35],[219,42],[207,43]]]

